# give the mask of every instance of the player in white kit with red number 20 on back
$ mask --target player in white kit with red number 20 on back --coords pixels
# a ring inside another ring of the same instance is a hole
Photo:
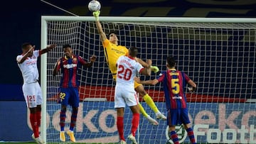
[[[129,49],[129,56],[120,56],[117,60],[117,84],[114,89],[114,108],[117,109],[117,131],[119,133],[120,143],[126,143],[124,138],[124,107],[129,106],[132,110],[132,128],[131,134],[128,136],[129,140],[137,143],[135,139],[135,132],[139,126],[139,105],[137,93],[134,90],[134,77],[137,73],[149,76],[151,68],[142,67],[139,62],[135,60],[138,53],[137,48]],[[146,63],[151,66],[151,60]]]

